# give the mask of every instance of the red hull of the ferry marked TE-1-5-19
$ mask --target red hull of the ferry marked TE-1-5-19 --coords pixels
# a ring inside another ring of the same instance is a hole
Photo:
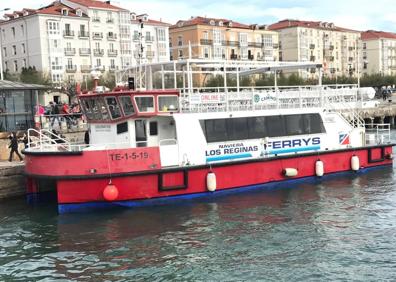
[[[155,151],[157,149],[138,150]],[[135,169],[131,169],[131,166],[127,166],[125,163],[120,164],[114,167],[109,174],[106,164],[101,163],[98,166],[101,173],[96,171],[95,174],[92,174],[89,167],[92,166],[94,160],[97,163],[100,159],[100,157],[95,159],[93,153],[74,156],[54,155],[50,162],[51,165],[47,165],[46,169],[42,162],[45,161],[48,164],[49,156],[28,154],[26,156],[28,192],[39,190],[35,179],[53,178],[56,181],[59,204],[105,202],[103,190],[111,178],[119,192],[116,201],[144,200],[208,192],[206,177],[210,170],[216,175],[217,191],[219,191],[289,180],[290,178],[282,173],[285,168],[298,170],[298,175],[294,178],[315,176],[315,163],[318,159],[324,163],[325,174],[350,171],[351,158],[354,155],[359,158],[362,168],[392,164],[392,146],[384,145],[216,163],[212,164],[211,169],[208,165],[158,169],[158,167],[151,166],[151,162],[158,164],[158,160],[153,158],[149,162],[140,162],[139,166],[135,166]],[[56,163],[64,165],[55,166]],[[76,164],[78,164],[78,168],[76,168]],[[139,170],[136,167],[145,167],[146,169]],[[79,171],[83,173],[74,173]]]

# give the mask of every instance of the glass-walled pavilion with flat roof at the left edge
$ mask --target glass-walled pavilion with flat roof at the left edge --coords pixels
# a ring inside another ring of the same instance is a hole
[[[0,80],[0,132],[34,126],[40,92],[47,86]]]

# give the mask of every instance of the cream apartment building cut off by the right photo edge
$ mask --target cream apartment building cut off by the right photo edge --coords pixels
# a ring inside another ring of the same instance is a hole
[[[396,74],[396,33],[368,30],[362,32],[362,72]]]

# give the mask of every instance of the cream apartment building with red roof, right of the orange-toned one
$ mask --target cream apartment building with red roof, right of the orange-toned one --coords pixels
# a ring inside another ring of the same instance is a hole
[[[360,32],[333,23],[283,20],[269,26],[279,32],[279,60],[323,64],[324,75],[356,76],[361,69]],[[312,77],[317,74],[303,71]]]

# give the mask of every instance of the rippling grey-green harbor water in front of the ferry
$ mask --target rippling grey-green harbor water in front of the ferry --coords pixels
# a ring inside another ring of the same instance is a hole
[[[395,242],[395,165],[84,214],[0,202],[0,281],[391,281]]]

